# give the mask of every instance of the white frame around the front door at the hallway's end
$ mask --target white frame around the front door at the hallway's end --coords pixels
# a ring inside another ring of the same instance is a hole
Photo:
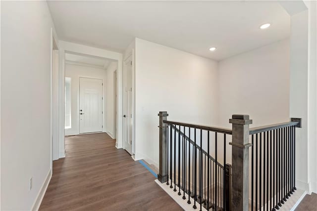
[[[105,70],[105,72],[106,72],[106,70]],[[102,80],[102,86],[103,86],[103,88],[102,88],[102,90],[103,90],[103,92],[102,92],[102,96],[103,96],[103,113],[102,113],[102,115],[103,115],[103,127],[102,127],[102,131],[101,132],[105,132],[106,130],[105,130],[105,123],[106,123],[106,119],[105,119],[105,99],[106,99],[106,96],[105,96],[105,93],[106,93],[106,91],[104,90],[104,88],[106,87],[106,85],[104,84],[105,82],[104,82],[104,79],[103,78],[100,78],[100,77],[93,77],[93,76],[84,76],[84,75],[79,75],[78,76],[78,81],[79,81],[79,83],[78,83],[78,93],[77,93],[77,97],[78,97],[78,100],[77,100],[77,107],[78,108],[80,108],[80,78],[86,78],[86,79],[98,79],[98,80]],[[80,135],[80,134],[89,134],[89,133],[100,133],[100,132],[85,132],[85,133],[80,133],[80,114],[79,114],[79,111],[77,111],[78,113],[77,113],[77,115],[78,115],[78,134]]]

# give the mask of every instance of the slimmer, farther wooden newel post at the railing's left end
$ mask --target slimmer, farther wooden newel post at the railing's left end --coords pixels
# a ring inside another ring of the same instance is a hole
[[[160,111],[159,114],[159,174],[158,179],[164,183],[168,179],[167,175],[167,124],[163,123],[167,120],[166,111]]]

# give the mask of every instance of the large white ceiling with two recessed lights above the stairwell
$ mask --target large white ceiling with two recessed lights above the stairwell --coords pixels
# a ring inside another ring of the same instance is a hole
[[[289,37],[277,1],[48,1],[59,39],[123,52],[135,37],[221,60]],[[260,30],[263,23],[271,27]],[[217,50],[210,52],[211,46]]]

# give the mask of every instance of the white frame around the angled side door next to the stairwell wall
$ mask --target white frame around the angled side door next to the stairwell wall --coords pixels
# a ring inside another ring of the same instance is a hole
[[[134,131],[134,127],[135,127],[135,83],[134,83],[134,53],[131,52],[130,54],[128,54],[126,56],[126,58],[123,61],[123,114],[125,114],[125,81],[126,81],[126,61],[128,59],[130,59],[131,57],[131,61],[132,61],[132,156],[135,155],[135,131]],[[123,149],[125,149],[125,118],[124,118],[124,123],[123,123]]]

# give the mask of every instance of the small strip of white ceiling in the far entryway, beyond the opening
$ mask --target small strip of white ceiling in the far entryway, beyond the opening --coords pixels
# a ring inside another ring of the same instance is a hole
[[[102,68],[102,69],[107,69],[107,67],[111,63],[111,61],[108,59],[77,55],[77,54],[71,54],[71,53],[65,53],[65,60],[66,62],[70,61],[73,63],[82,64],[82,65],[90,65],[90,66]]]

